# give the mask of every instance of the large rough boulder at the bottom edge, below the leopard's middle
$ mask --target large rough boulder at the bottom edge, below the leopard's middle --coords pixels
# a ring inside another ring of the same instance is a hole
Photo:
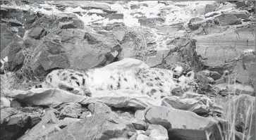
[[[128,133],[135,133],[130,122],[119,118],[114,113],[96,113],[91,117],[68,125],[49,139],[112,139],[128,138]]]

